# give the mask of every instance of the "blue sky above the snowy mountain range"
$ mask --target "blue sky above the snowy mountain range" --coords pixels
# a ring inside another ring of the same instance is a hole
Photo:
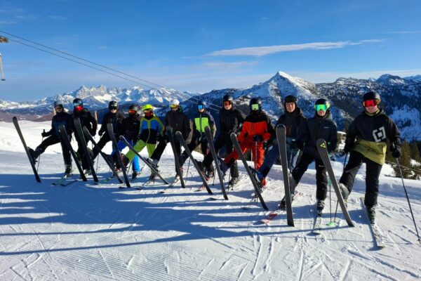
[[[0,100],[36,100],[81,85],[153,87],[23,39],[190,92],[244,88],[278,71],[314,83],[421,74],[420,14],[419,0],[2,0],[0,36],[11,41],[0,44]]]

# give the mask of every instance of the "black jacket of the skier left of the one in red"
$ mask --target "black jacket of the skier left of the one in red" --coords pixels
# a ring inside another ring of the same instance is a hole
[[[243,114],[240,110],[237,110],[232,105],[231,109],[226,110],[222,107],[220,110],[220,137],[224,136],[229,139],[231,133],[238,133],[241,129],[241,124],[243,124],[246,119],[246,115]]]

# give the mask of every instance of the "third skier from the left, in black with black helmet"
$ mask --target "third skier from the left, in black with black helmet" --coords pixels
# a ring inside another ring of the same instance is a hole
[[[101,129],[98,131],[98,135],[101,137],[100,141],[98,141],[98,146],[101,149],[111,141],[109,133],[107,132],[107,124],[112,123],[114,132],[118,132],[120,131],[120,126],[124,119],[123,112],[119,110],[119,104],[115,100],[108,103],[108,110],[109,111],[105,113],[104,117],[102,117]],[[116,136],[116,139],[119,139],[118,136]],[[100,150],[95,147],[93,149],[92,160],[95,159],[98,154],[100,154]]]

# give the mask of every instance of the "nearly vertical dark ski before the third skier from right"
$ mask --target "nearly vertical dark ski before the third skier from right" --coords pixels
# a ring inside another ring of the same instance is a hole
[[[289,171],[286,154],[286,129],[282,124],[276,126],[276,140],[278,141],[279,155],[281,156],[283,187],[285,189],[286,221],[288,226],[294,226],[293,205],[291,200],[291,190],[289,185]]]

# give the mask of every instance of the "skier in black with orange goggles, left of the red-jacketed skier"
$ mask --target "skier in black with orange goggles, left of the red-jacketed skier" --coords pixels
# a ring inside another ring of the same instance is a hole
[[[232,141],[231,138],[229,138],[229,135],[231,133],[239,133],[241,125],[244,122],[245,115],[243,112],[235,108],[234,97],[230,94],[227,94],[222,98],[222,109],[219,113],[220,133],[218,138],[215,139],[215,152],[218,154],[218,151],[225,146],[225,152],[228,154],[233,150]],[[209,171],[212,169],[212,162],[212,153],[208,152],[203,159],[203,170]],[[233,186],[239,181],[239,169],[236,165],[236,161],[232,163],[230,171],[231,179],[229,180],[229,185]]]

